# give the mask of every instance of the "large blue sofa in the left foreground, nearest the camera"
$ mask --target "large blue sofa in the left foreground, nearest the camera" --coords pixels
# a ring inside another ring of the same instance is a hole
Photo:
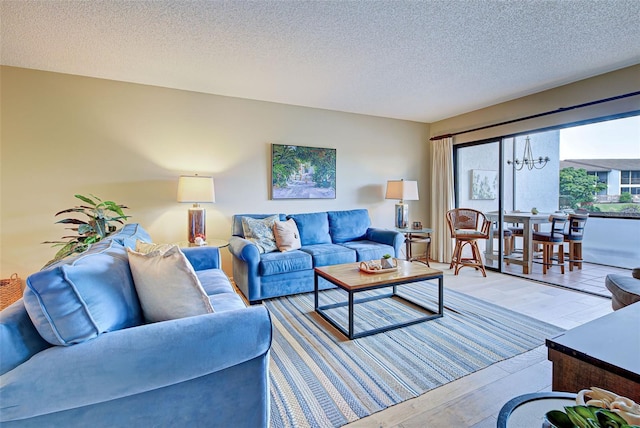
[[[0,312],[1,426],[269,425],[268,311],[234,292],[217,248],[185,248],[214,313],[146,323],[137,239],[150,242],[126,225],[29,276]]]

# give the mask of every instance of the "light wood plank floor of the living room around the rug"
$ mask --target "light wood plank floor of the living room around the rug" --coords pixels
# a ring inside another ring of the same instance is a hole
[[[612,311],[611,300],[487,271],[432,263],[445,274],[446,290],[456,290],[559,327],[570,329]],[[518,395],[551,390],[551,363],[540,346],[382,412],[355,421],[356,427],[495,427],[503,404]]]

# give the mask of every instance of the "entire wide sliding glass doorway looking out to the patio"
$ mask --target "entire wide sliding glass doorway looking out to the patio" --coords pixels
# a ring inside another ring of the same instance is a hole
[[[540,274],[533,231],[546,231],[552,213],[581,210],[589,212],[585,262],[632,267],[640,255],[639,124],[640,116],[615,118],[454,145],[456,207],[492,221],[492,239],[479,242],[485,266]]]

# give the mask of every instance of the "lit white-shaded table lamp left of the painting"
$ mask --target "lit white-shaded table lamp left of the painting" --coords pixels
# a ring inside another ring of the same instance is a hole
[[[181,175],[178,180],[178,202],[191,202],[189,208],[189,243],[202,244],[207,240],[206,210],[203,203],[216,201],[213,177]],[[198,239],[199,238],[199,239]]]

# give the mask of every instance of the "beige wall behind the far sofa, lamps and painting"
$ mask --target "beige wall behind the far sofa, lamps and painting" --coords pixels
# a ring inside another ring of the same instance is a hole
[[[1,68],[2,278],[26,277],[64,233],[54,214],[93,193],[130,207],[157,242],[186,239],[180,174],[211,174],[207,235],[228,238],[231,215],[368,208],[393,226],[386,180],[417,179],[426,222],[426,124],[206,95],[20,68]],[[270,143],[337,149],[335,200],[269,200]],[[231,273],[230,256],[223,266]]]

